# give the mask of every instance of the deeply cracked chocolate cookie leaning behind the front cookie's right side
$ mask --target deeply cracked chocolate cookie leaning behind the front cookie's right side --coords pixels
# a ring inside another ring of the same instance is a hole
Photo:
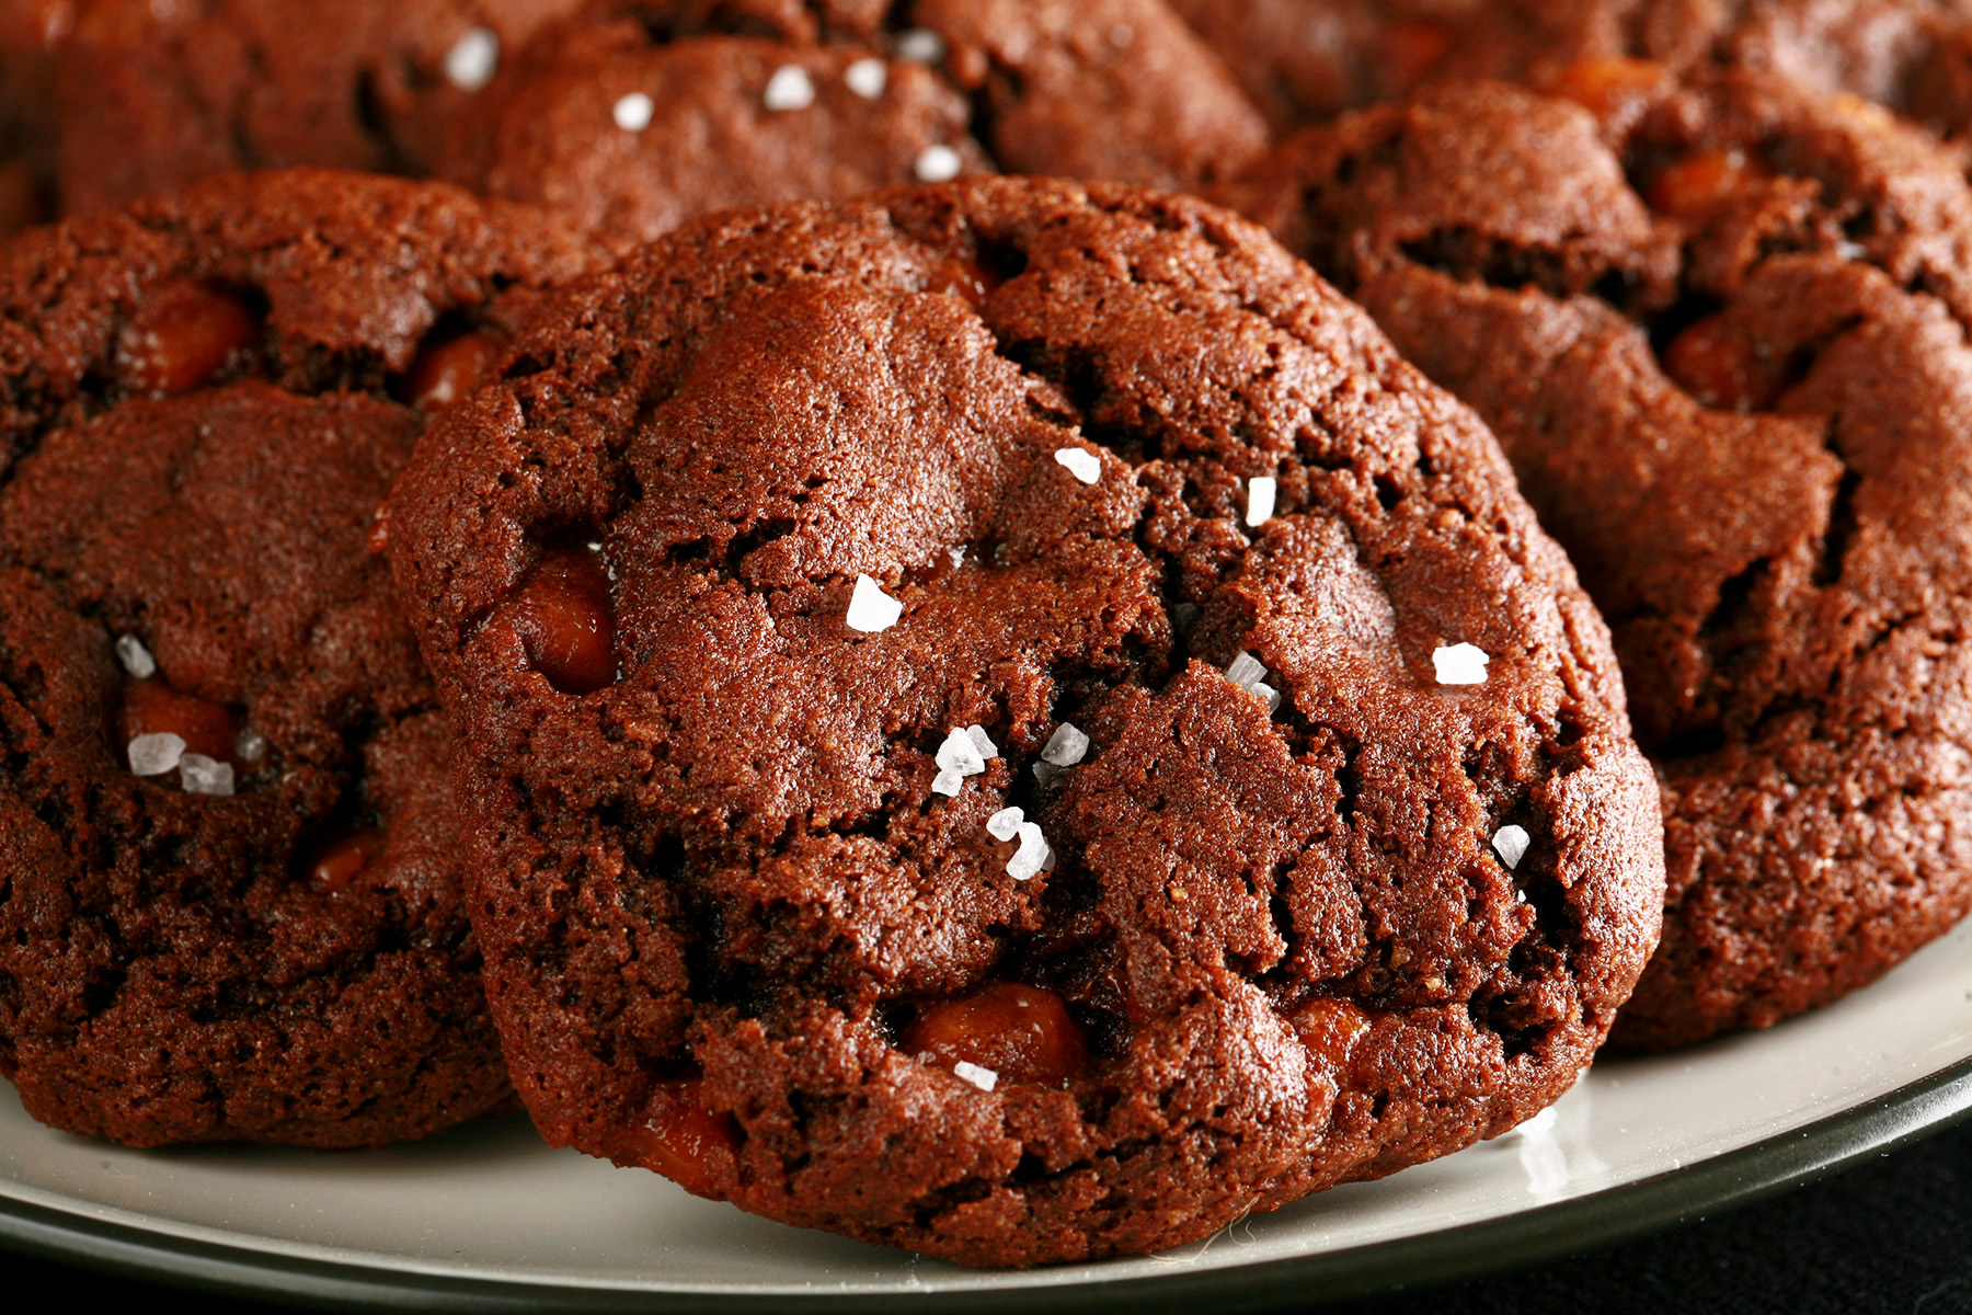
[[[1633,91],[1447,87],[1238,199],[1493,424],[1615,631],[1670,875],[1615,1035],[1660,1049],[1972,905],[1972,189],[1854,97]]]

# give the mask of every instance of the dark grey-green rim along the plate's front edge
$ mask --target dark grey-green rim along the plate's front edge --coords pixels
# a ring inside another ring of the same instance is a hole
[[[596,1311],[651,1309],[706,1315],[751,1311],[1039,1311],[1114,1309],[1118,1299],[1150,1309],[1211,1301],[1219,1315],[1282,1297],[1331,1305],[1373,1293],[1412,1291],[1503,1274],[1751,1205],[1789,1187],[1846,1169],[1972,1118],[1972,1057],[1895,1090],[1862,1100],[1802,1128],[1696,1159],[1585,1197],[1556,1201],[1455,1228],[1369,1242],[1313,1256],[1087,1280],[1059,1287],[903,1293],[708,1293],[665,1287],[590,1287],[390,1266],[282,1256],[250,1246],[179,1238],[126,1222],[0,1197],[0,1246],[79,1264],[120,1278],[258,1301],[306,1301],[337,1309],[416,1311]],[[1402,1274],[1392,1283],[1390,1276]]]

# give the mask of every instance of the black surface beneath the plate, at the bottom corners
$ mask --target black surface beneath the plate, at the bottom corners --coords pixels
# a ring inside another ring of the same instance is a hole
[[[280,1309],[0,1254],[0,1307]],[[26,1307],[14,1293],[28,1295]],[[1300,1305],[1311,1309],[1319,1293]],[[1035,1301],[1043,1309],[1043,1301]],[[1150,1315],[1124,1311],[1120,1315]],[[661,1311],[661,1303],[653,1303]],[[1518,1274],[1374,1301],[1345,1315],[1972,1315],[1972,1122],[1720,1218]],[[1191,1311],[1189,1315],[1213,1315]]]

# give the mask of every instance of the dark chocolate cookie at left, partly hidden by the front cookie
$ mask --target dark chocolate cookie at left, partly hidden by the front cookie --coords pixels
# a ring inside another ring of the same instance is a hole
[[[35,1118],[373,1145],[511,1100],[375,513],[461,379],[420,343],[584,260],[325,172],[0,252],[0,1073]]]

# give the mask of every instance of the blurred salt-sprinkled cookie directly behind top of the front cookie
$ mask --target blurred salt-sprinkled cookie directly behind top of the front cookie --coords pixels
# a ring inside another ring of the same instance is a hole
[[[674,0],[538,37],[458,118],[442,172],[649,239],[986,170],[1183,189],[1264,140],[1163,0]]]

